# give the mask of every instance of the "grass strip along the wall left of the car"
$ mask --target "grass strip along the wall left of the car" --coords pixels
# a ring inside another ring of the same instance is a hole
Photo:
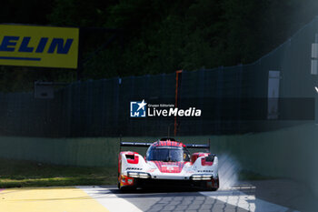
[[[115,185],[116,167],[67,167],[0,159],[0,187]]]

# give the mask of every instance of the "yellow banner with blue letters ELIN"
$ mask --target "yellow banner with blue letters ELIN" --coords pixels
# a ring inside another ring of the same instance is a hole
[[[78,28],[0,25],[0,66],[77,68]]]

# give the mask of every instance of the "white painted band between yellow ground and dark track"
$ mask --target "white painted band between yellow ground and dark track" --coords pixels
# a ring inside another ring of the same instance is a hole
[[[84,190],[84,192],[96,199],[100,204],[106,207],[111,212],[117,211],[131,211],[140,212],[138,207],[125,200],[124,198],[117,197],[109,189],[105,187],[77,187]]]

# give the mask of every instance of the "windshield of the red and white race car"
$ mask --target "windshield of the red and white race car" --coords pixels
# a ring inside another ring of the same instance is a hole
[[[190,153],[184,147],[150,146],[146,154],[146,160],[164,162],[190,161]]]

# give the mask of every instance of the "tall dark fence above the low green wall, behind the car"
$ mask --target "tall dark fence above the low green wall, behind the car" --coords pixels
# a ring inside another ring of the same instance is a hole
[[[0,94],[0,134],[165,136],[172,135],[176,122],[177,136],[222,135],[313,122],[318,80],[311,75],[311,61],[317,33],[315,18],[253,64],[183,71],[178,106],[200,108],[201,117],[131,118],[131,101],[175,103],[175,73],[116,77],[75,82],[55,90],[53,99]],[[273,82],[270,72],[277,76]],[[268,120],[272,97],[279,100]]]

